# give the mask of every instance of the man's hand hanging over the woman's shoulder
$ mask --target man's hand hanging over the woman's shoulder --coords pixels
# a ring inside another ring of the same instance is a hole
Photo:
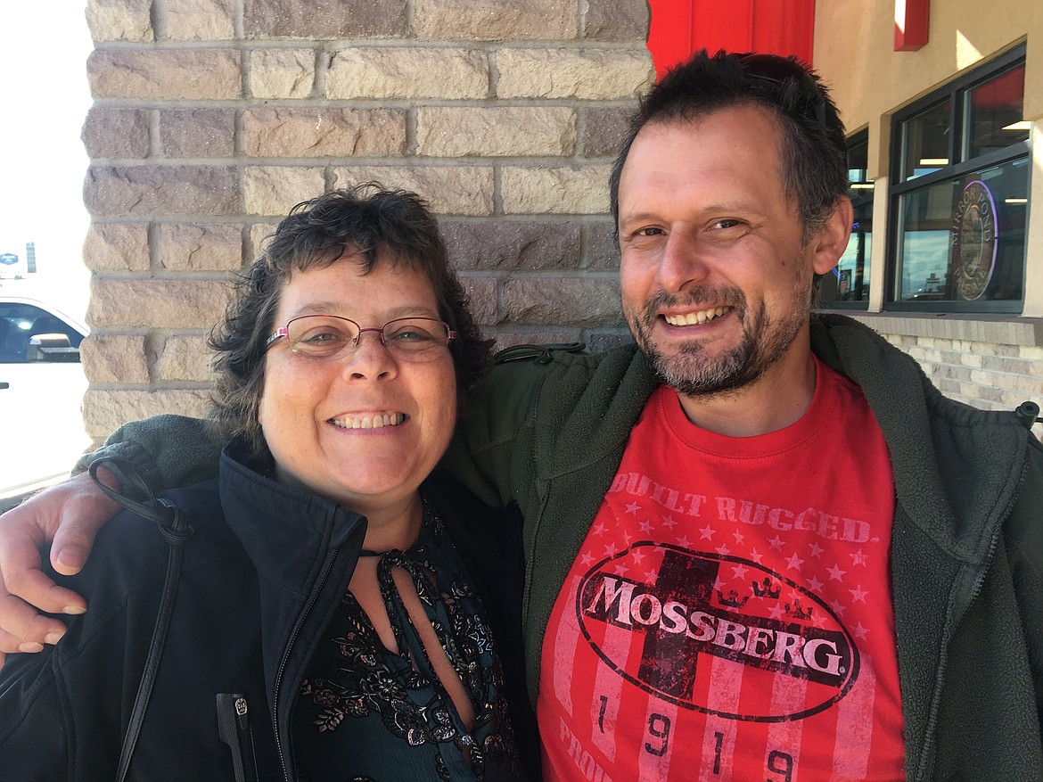
[[[116,487],[107,470],[98,478]],[[40,569],[40,551],[51,543],[51,565],[72,576],[87,561],[94,536],[120,507],[84,472],[0,516],[0,665],[4,653],[40,652],[57,643],[65,625],[38,610],[81,614],[83,598],[57,586]]]

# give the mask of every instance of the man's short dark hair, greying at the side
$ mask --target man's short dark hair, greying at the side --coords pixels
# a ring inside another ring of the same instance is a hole
[[[808,241],[848,189],[847,144],[836,106],[819,77],[796,57],[724,50],[710,56],[703,49],[671,69],[641,99],[609,179],[616,229],[620,176],[645,125],[688,122],[749,104],[763,106],[778,119],[782,184],[796,199]]]

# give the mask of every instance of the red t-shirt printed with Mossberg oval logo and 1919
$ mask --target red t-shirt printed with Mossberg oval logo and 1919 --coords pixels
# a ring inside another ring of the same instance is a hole
[[[649,399],[544,637],[549,780],[904,779],[890,458],[817,370],[758,437]]]

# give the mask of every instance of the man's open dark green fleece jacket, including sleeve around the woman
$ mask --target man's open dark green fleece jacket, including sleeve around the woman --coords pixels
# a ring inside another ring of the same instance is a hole
[[[1043,446],[1013,413],[947,399],[911,358],[840,316],[815,352],[862,387],[890,448],[895,629],[909,780],[1043,780]],[[655,389],[644,356],[498,367],[444,467],[525,517],[530,697],[551,609]],[[223,443],[201,421],[128,424],[102,448],[156,488],[211,475]]]

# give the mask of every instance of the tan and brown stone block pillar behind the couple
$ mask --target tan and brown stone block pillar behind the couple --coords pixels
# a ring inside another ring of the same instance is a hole
[[[209,407],[204,340],[293,204],[439,215],[502,344],[624,339],[607,179],[645,0],[90,0],[87,427]]]

